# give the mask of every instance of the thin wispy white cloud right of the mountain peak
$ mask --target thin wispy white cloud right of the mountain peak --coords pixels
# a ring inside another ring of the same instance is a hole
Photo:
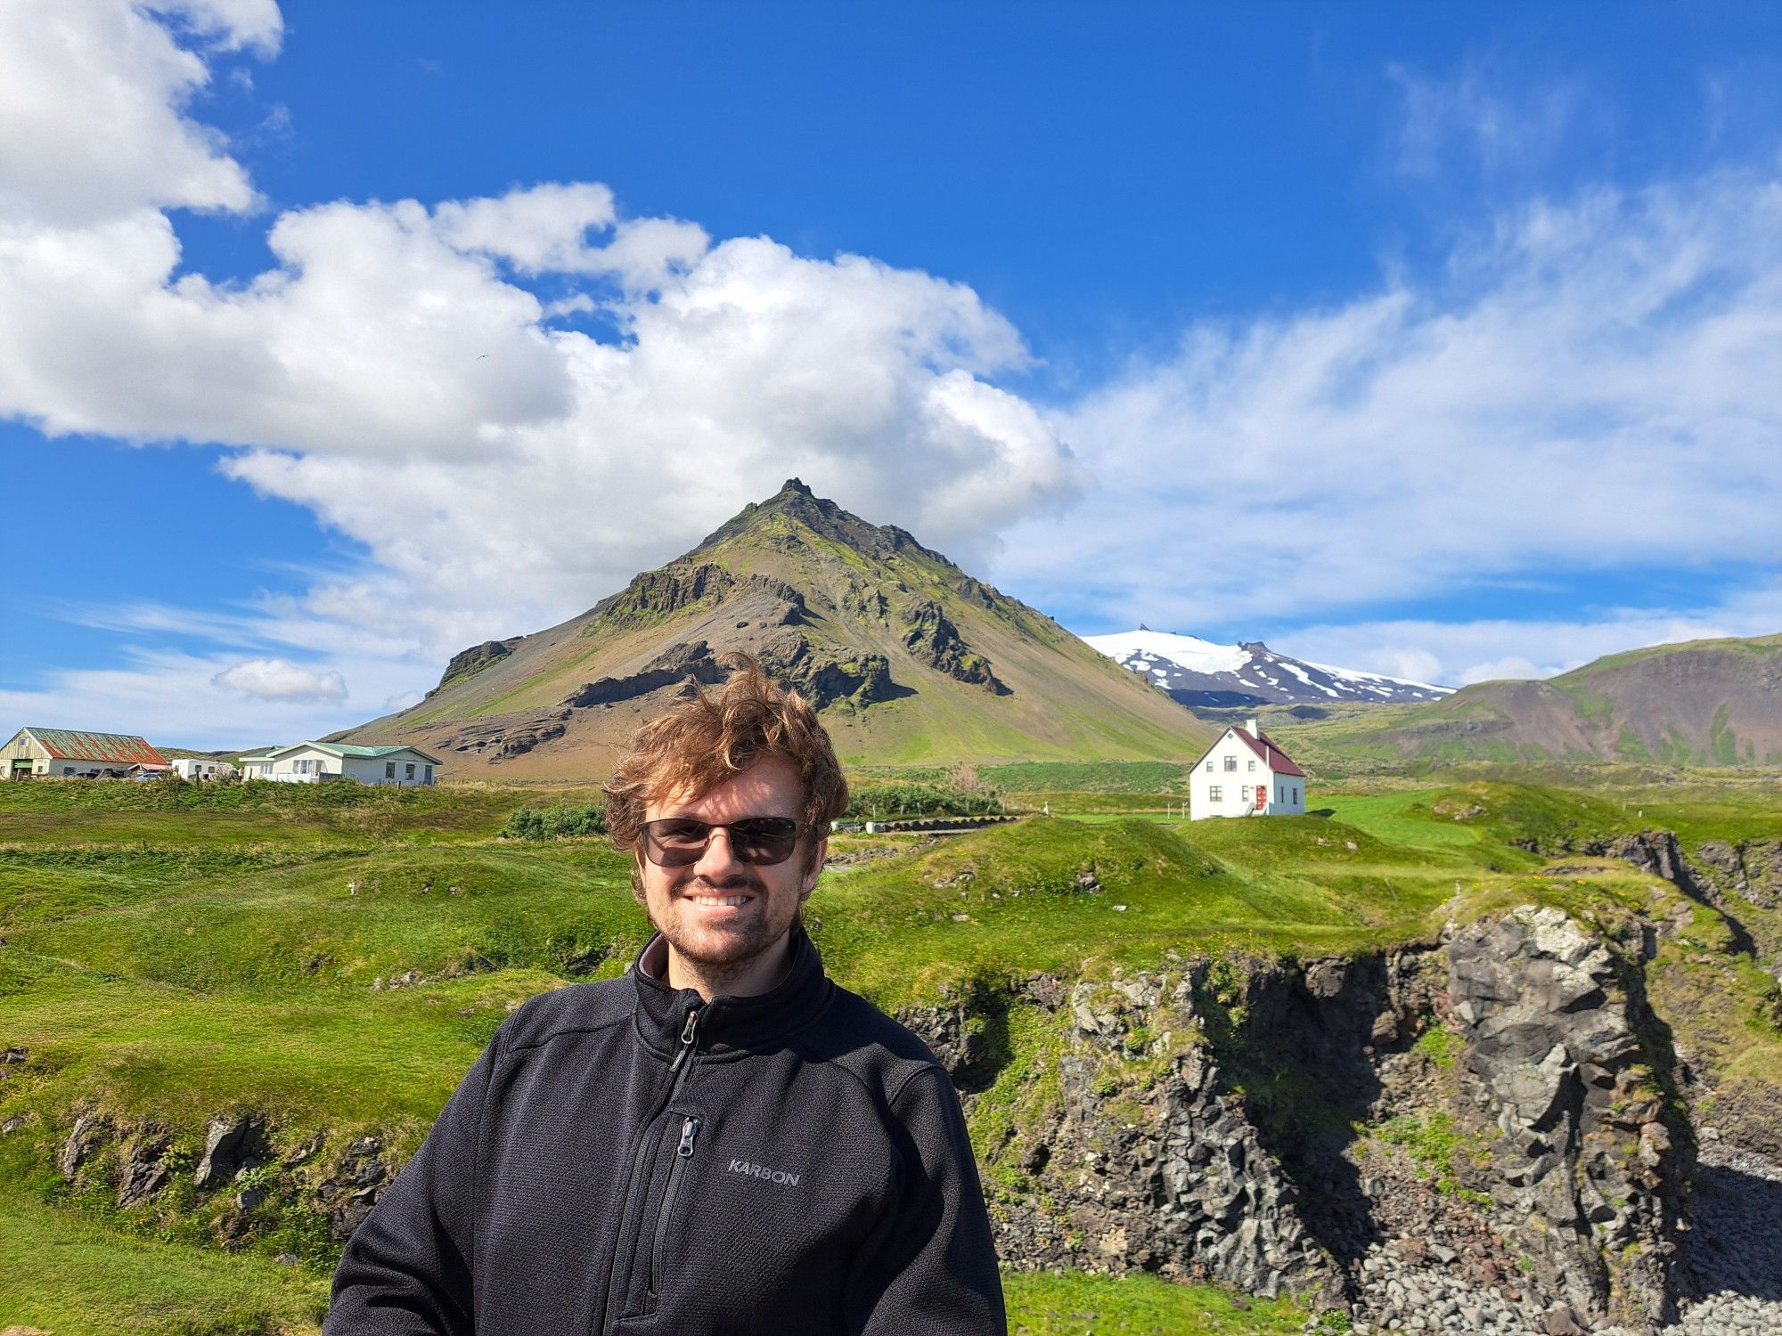
[[[1096,490],[1010,534],[1007,568],[1066,616],[1208,625],[1552,568],[1773,563],[1778,365],[1773,173],[1534,203],[1440,278],[1196,324],[1067,406]]]

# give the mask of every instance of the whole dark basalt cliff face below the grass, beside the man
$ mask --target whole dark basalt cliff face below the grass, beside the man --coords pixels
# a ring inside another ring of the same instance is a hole
[[[1431,948],[1039,976],[903,1021],[993,1131],[1012,1267],[1290,1290],[1386,1325],[1415,1309],[1390,1263],[1474,1295],[1445,1329],[1652,1332],[1695,1290],[1695,1140],[1647,941],[1524,905]],[[1014,1008],[1055,1051],[1010,1096]]]

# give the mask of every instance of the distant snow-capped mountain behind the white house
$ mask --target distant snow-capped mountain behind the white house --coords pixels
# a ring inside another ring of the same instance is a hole
[[[1142,623],[1137,631],[1083,639],[1190,709],[1328,705],[1340,700],[1395,704],[1440,700],[1454,691],[1451,686],[1290,659],[1260,639],[1215,645],[1199,636],[1151,631]]]

